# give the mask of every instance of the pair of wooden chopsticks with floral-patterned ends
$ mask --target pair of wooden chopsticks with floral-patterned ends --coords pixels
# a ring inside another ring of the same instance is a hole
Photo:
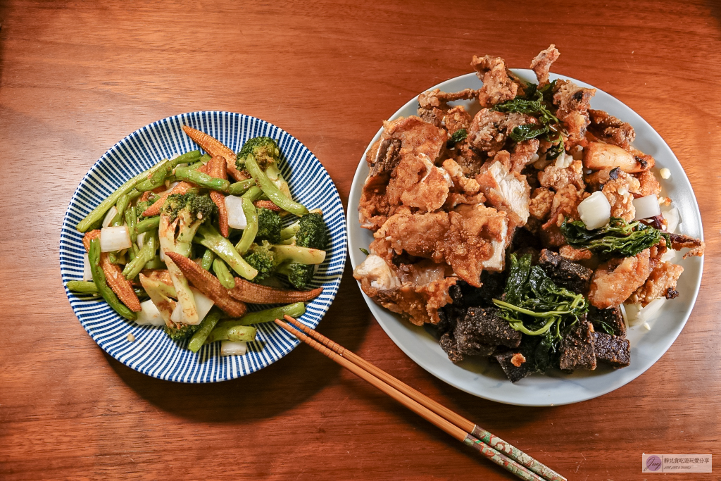
[[[363,360],[363,358],[351,353],[350,350],[343,348],[319,332],[293,319],[293,317],[286,316],[285,319],[303,332],[296,330],[280,319],[275,319],[275,323],[319,351],[319,353],[331,358],[356,376],[373,384],[373,386],[408,407],[417,415],[446,431],[446,433],[463,444],[471,446],[483,456],[522,480],[567,481],[565,477],[559,475],[545,464],[536,461],[536,459],[528,456],[528,454],[515,446],[494,436],[447,407],[438,404],[430,397],[417,392],[412,387],[386,373],[386,371],[378,369],[373,364]]]

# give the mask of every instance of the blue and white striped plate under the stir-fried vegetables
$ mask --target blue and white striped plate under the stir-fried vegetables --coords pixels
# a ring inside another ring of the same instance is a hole
[[[328,255],[319,265],[313,287],[323,294],[306,306],[300,318],[316,327],[335,298],[348,251],[345,216],[338,191],[318,159],[286,131],[264,120],[233,112],[192,112],[158,120],[123,138],[95,162],[70,200],[60,237],[60,270],[63,284],[81,280],[81,221],[103,199],[126,180],[173,154],[198,149],[182,131],[189,125],[210,134],[239,151],[248,138],[269,136],[278,141],[283,154],[281,172],[293,198],[308,208],[320,208],[329,230]],[[244,356],[220,356],[219,343],[205,345],[198,353],[178,345],[162,328],[127,322],[102,299],[68,291],[68,300],[90,337],[113,358],[136,371],[158,379],[179,382],[216,382],[245,376],[286,356],[299,341],[273,323],[258,325],[255,342],[248,343]],[[258,307],[260,309],[260,307]],[[128,334],[135,341],[128,341]],[[186,341],[187,343],[187,341]]]

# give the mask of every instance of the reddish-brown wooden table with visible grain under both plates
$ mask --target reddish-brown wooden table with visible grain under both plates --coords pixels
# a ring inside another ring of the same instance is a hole
[[[525,68],[555,43],[553,70],[639,112],[694,186],[706,269],[676,343],[615,392],[528,408],[416,366],[350,268],[320,331],[570,479],[643,479],[642,452],[711,453],[714,474],[678,479],[720,479],[720,22],[710,0],[0,2],[0,478],[513,479],[305,346],[220,384],[126,368],[71,311],[58,238],[81,177],[141,125],[194,110],[263,118],[318,156],[345,202],[404,102],[469,72],[473,54]]]

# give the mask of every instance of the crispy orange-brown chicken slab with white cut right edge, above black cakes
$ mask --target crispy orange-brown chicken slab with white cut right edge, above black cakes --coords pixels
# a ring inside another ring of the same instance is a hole
[[[461,279],[480,287],[484,268],[503,270],[508,219],[505,213],[482,204],[458,206],[448,219],[446,262]]]

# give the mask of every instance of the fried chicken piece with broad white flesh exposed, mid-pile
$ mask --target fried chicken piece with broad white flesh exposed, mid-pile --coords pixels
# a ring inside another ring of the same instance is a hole
[[[505,152],[505,151],[502,151]],[[523,226],[528,221],[528,203],[531,198],[531,187],[526,182],[526,176],[518,172],[508,172],[508,164],[504,165],[498,159],[485,168],[476,180],[486,196],[487,203],[500,211],[508,213],[508,219],[516,226]],[[505,162],[508,152],[505,152]]]

